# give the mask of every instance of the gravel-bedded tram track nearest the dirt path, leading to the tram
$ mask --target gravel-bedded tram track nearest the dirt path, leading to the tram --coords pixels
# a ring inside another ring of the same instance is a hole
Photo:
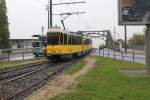
[[[49,63],[43,68],[7,80],[0,85],[0,97],[3,97],[2,100],[23,100],[77,61],[79,58],[69,62]]]

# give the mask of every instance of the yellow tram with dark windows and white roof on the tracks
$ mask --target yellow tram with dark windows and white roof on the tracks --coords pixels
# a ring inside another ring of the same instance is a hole
[[[91,48],[92,40],[87,37],[58,28],[49,29],[47,32],[48,58],[84,55],[89,53]]]

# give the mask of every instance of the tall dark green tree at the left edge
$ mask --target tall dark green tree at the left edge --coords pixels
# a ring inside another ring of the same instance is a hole
[[[5,0],[0,0],[0,48],[9,48],[9,28]]]

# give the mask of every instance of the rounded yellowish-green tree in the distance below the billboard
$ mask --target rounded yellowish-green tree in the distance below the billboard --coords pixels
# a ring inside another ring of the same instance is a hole
[[[144,40],[144,35],[135,33],[129,40],[128,40],[129,45],[144,45],[145,40]]]

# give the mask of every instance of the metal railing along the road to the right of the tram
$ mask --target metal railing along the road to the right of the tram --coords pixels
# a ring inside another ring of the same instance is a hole
[[[103,56],[108,58],[113,58],[114,60],[122,61],[132,61],[145,64],[145,54],[144,52],[122,52],[112,49],[93,49],[92,54],[97,56]]]

